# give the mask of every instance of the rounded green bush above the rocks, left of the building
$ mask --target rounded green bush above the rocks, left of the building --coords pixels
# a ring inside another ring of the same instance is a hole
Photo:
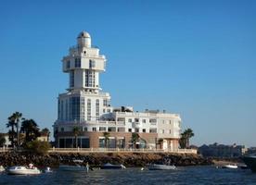
[[[25,149],[33,154],[47,154],[51,145],[49,142],[41,142],[41,141],[32,141],[27,142]]]

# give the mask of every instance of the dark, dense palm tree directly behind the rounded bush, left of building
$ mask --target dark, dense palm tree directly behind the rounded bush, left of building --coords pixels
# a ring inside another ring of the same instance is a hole
[[[24,119],[20,131],[25,133],[25,142],[32,142],[40,136],[38,125],[33,119]]]

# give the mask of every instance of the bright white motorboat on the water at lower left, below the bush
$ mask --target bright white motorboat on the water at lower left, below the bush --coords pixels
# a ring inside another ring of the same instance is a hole
[[[26,166],[11,166],[7,169],[9,175],[36,175],[41,174],[41,171],[37,167]]]

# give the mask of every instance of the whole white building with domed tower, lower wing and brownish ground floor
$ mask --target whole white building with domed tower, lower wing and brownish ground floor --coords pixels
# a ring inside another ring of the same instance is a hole
[[[89,33],[82,31],[77,45],[62,59],[63,72],[70,75],[67,93],[58,96],[58,120],[54,124],[58,147],[74,147],[74,127],[80,129],[77,146],[104,147],[103,132],[109,132],[109,147],[132,147],[132,133],[140,136],[135,147],[176,149],[181,118],[160,111],[134,112],[132,107],[113,109],[109,93],[101,92],[99,74],[107,59],[91,45]]]

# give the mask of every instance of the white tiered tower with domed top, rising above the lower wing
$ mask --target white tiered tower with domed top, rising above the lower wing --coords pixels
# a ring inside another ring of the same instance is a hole
[[[112,110],[109,93],[102,93],[99,87],[99,74],[105,71],[107,59],[91,42],[90,34],[82,31],[77,44],[62,59],[62,69],[69,74],[70,84],[68,93],[58,96],[57,123],[96,121]]]

